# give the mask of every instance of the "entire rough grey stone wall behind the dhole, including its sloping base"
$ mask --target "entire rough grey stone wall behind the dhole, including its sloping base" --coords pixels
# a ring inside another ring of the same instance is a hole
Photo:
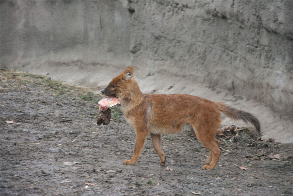
[[[145,92],[203,84],[292,122],[293,1],[2,0],[0,15],[1,67],[102,88],[132,65]]]

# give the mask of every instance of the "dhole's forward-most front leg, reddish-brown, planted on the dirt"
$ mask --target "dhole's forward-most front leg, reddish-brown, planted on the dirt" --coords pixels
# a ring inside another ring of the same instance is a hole
[[[137,162],[142,153],[142,149],[144,148],[144,142],[148,133],[149,131],[145,129],[143,131],[136,131],[134,154],[130,160],[124,160],[123,165],[134,165]]]

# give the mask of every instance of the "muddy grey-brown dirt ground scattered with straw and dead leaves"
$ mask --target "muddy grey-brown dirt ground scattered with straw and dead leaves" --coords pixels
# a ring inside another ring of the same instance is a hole
[[[166,166],[148,137],[135,165],[135,132],[119,106],[97,126],[90,89],[46,76],[1,70],[1,195],[292,195],[293,145],[259,140],[248,128],[223,126],[222,155],[190,132],[164,135]]]

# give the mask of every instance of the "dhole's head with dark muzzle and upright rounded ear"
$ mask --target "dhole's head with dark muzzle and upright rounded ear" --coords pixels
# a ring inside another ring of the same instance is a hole
[[[113,78],[109,85],[101,92],[104,95],[112,95],[120,98],[123,93],[130,91],[133,71],[132,66],[127,67],[119,76]]]

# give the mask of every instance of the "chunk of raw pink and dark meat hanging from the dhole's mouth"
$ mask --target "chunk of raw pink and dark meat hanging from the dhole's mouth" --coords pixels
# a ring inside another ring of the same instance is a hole
[[[103,123],[103,125],[108,125],[111,120],[111,110],[109,107],[119,105],[120,101],[117,97],[105,96],[98,102],[98,104],[100,113],[97,119],[97,124],[100,125]]]

